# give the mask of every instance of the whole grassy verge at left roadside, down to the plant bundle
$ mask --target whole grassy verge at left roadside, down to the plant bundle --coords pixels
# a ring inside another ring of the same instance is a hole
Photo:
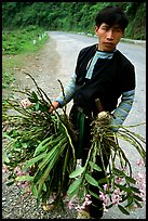
[[[10,89],[15,80],[15,69],[22,68],[26,56],[35,55],[48,39],[42,28],[32,25],[25,29],[2,31],[2,89]]]

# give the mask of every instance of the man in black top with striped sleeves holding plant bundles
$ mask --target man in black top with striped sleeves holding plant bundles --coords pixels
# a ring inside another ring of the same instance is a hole
[[[76,72],[63,93],[52,103],[50,113],[63,107],[73,99],[70,119],[79,132],[75,144],[76,156],[84,165],[91,146],[91,119],[99,110],[112,113],[110,129],[118,131],[132,108],[135,94],[135,70],[133,64],[117,49],[129,24],[127,17],[119,6],[103,9],[95,18],[95,35],[98,43],[82,49],[79,53]],[[100,109],[96,100],[100,101]],[[83,125],[81,117],[83,117]],[[79,116],[79,117],[78,117]],[[82,131],[83,128],[83,131]],[[109,152],[108,152],[109,153]],[[109,158],[105,159],[106,167]],[[97,162],[100,166],[99,158]],[[97,172],[95,179],[104,178]],[[92,191],[95,192],[94,186]],[[99,196],[99,193],[97,193]],[[80,210],[78,219],[100,218],[103,202],[91,196],[92,204]]]

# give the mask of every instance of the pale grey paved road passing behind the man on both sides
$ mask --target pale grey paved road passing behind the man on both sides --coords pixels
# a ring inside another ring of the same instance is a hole
[[[97,42],[97,38],[84,35],[75,35],[59,31],[48,32],[51,42],[55,44],[55,51],[58,54],[58,63],[56,64],[56,78],[58,77],[63,84],[66,86],[70,76],[75,72],[77,56],[79,51],[86,46]],[[136,96],[133,108],[125,120],[125,125],[135,125],[146,120],[146,48],[143,44],[120,42],[118,49],[135,65],[136,72]],[[70,107],[71,103],[69,104]],[[146,135],[146,127],[139,126],[135,132]],[[139,157],[135,150],[123,147],[133,165],[135,173],[138,172],[138,167],[135,166]],[[143,170],[143,172],[145,169]],[[110,209],[103,219],[146,219],[146,207],[137,209],[131,216],[124,216],[118,209]]]

